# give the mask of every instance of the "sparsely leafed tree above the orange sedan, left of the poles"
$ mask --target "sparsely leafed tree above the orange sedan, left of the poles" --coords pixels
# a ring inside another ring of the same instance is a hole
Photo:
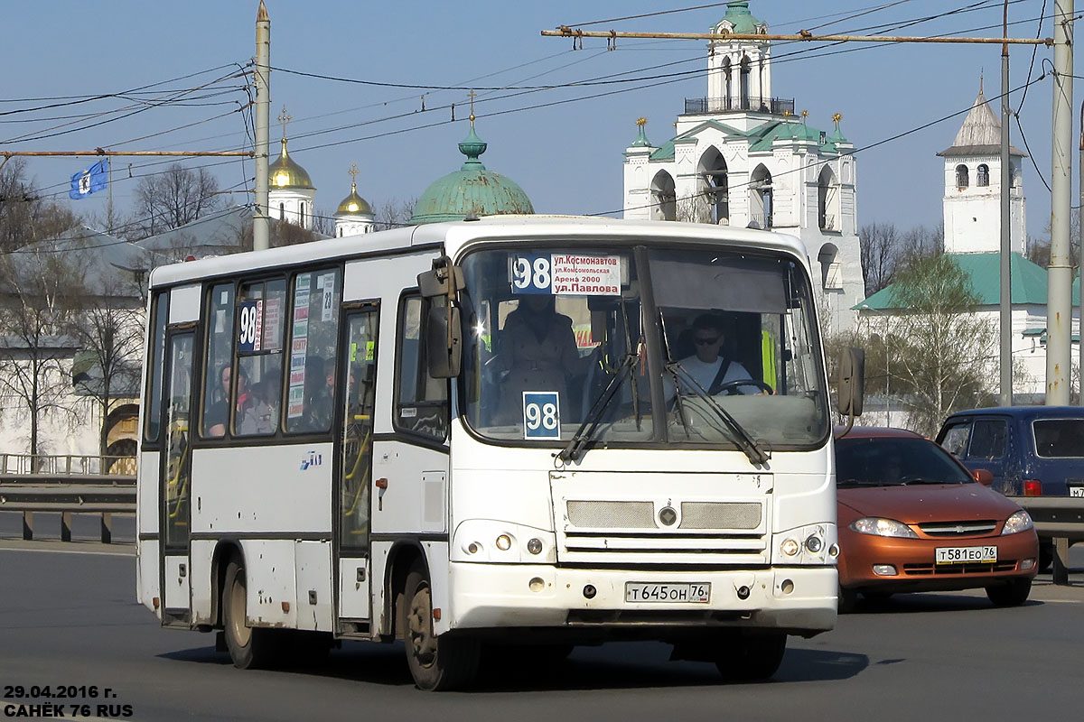
[[[888,325],[888,372],[905,394],[912,429],[931,435],[952,411],[989,403],[995,327],[973,313],[979,297],[947,255],[913,260],[892,289],[904,311]]]

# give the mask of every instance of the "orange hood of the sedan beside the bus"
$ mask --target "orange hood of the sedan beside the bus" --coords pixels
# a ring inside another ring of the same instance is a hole
[[[1020,509],[981,484],[914,484],[839,489],[839,503],[863,516],[904,524],[1004,520]]]

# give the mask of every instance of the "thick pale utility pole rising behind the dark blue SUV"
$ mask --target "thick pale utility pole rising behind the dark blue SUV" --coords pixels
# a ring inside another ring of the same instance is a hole
[[[1046,301],[1046,405],[1069,403],[1073,259],[1072,206],[1073,0],[1054,0],[1054,126],[1050,154],[1050,266]]]

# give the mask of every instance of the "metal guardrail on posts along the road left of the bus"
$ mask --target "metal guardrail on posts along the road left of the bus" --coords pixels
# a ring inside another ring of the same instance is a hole
[[[48,462],[36,463],[42,459]],[[130,459],[132,473],[103,474],[101,465],[83,463],[103,459]],[[101,514],[101,539],[107,544],[113,541],[113,514],[136,512],[134,458],[0,455],[0,511],[23,513],[26,540],[34,539],[35,512],[60,513],[61,541],[72,541],[73,514]]]

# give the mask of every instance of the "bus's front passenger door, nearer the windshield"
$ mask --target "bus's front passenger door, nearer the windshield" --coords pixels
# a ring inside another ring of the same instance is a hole
[[[375,303],[348,311],[346,343],[339,372],[346,390],[338,454],[338,618],[369,619],[370,614],[370,485],[373,471],[373,413],[376,397],[376,339],[379,310]]]

